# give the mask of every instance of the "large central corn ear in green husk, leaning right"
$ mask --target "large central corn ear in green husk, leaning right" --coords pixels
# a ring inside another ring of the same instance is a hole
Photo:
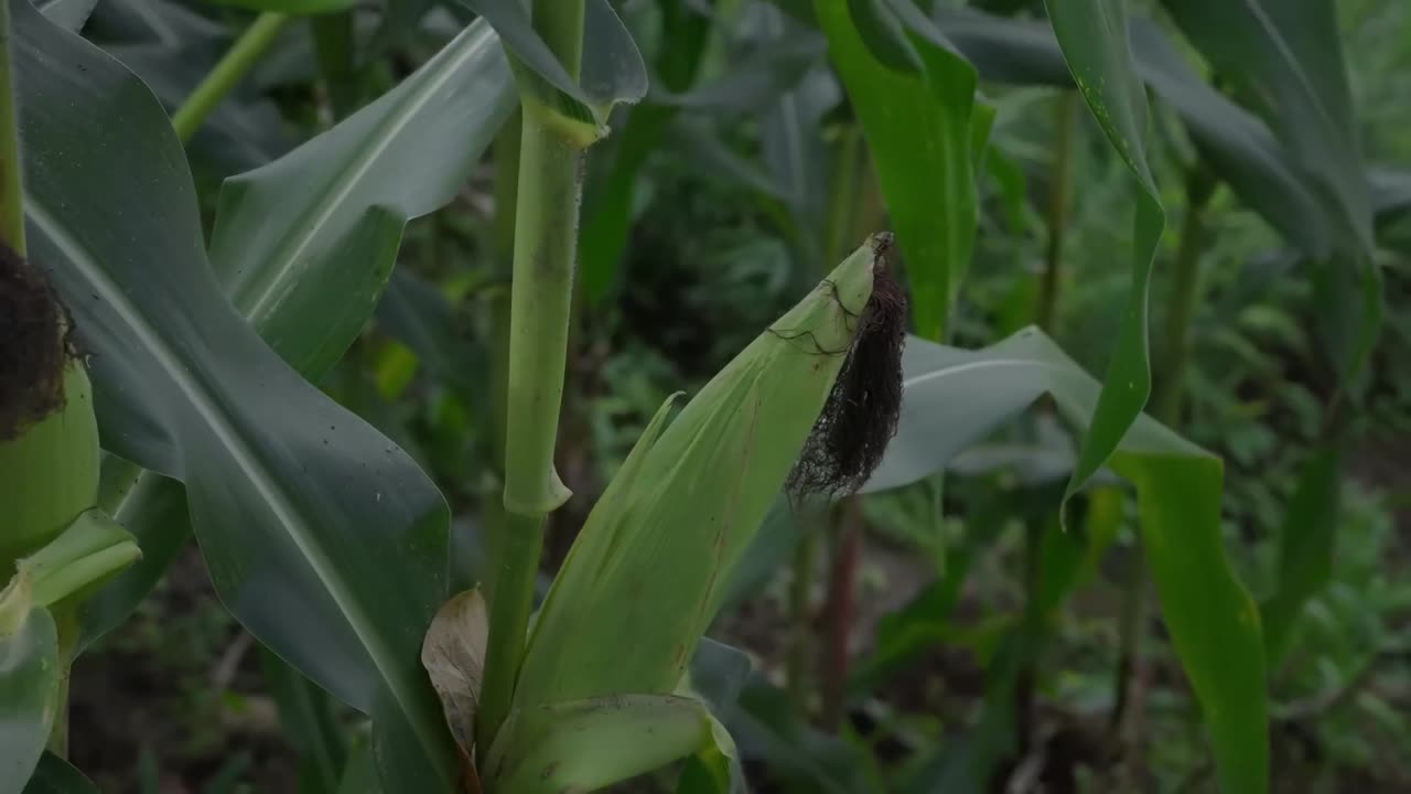
[[[875,259],[869,240],[669,427],[670,403],[658,413],[539,613],[515,689],[521,712],[673,691],[828,401],[872,295]]]

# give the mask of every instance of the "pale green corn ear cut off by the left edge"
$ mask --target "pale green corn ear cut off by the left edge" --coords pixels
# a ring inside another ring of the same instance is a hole
[[[62,407],[0,442],[0,578],[95,504],[97,441],[87,373],[71,360]]]

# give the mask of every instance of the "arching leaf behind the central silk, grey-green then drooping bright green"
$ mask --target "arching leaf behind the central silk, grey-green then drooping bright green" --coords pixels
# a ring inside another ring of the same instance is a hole
[[[910,339],[903,369],[900,428],[864,490],[938,472],[1044,393],[1078,424],[1101,401],[1096,381],[1034,329],[974,352]],[[1259,612],[1223,550],[1221,461],[1139,415],[1110,468],[1136,486],[1161,615],[1201,702],[1221,781],[1226,791],[1264,791],[1264,643]]]

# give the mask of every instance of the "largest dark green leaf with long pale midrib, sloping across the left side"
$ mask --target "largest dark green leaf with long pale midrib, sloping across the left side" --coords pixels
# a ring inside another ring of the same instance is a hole
[[[395,736],[392,777],[453,788],[416,658],[444,598],[444,500],[230,308],[181,146],[145,86],[27,3],[13,8],[34,259],[90,352],[104,439],[186,485],[222,600]]]

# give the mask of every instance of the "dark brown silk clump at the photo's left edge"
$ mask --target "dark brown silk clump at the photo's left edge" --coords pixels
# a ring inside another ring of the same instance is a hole
[[[45,274],[0,242],[0,442],[63,407],[68,326]]]

